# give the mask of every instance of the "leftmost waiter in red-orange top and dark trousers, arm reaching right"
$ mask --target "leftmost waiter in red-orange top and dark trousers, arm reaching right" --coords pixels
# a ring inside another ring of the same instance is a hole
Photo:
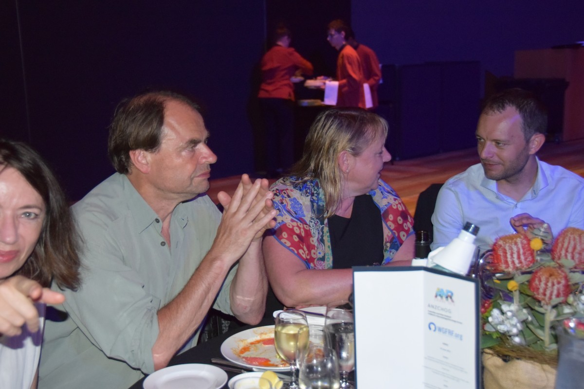
[[[280,174],[294,162],[294,75],[312,75],[312,64],[290,47],[291,33],[280,26],[261,61],[259,101],[265,125],[268,176]]]

